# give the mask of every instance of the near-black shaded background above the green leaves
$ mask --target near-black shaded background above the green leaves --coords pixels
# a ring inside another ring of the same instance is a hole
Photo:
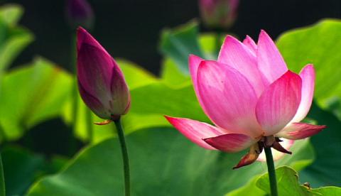
[[[41,55],[70,68],[70,28],[65,21],[65,1],[17,0],[25,8],[21,24],[36,36],[13,65]],[[161,55],[158,40],[163,28],[199,18],[197,0],[92,0],[96,16],[92,34],[114,57],[126,58],[158,74]],[[230,32],[256,38],[265,29],[276,38],[283,31],[307,26],[320,18],[340,18],[340,0],[242,0],[239,16]],[[202,31],[206,31],[202,27]]]

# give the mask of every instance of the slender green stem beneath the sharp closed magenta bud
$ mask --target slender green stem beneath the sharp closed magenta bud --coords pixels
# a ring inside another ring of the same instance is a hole
[[[121,120],[114,120],[114,123],[117,128],[117,134],[119,135],[119,144],[121,145],[121,152],[123,158],[123,167],[124,167],[124,190],[125,195],[130,195],[130,175],[129,175],[129,158],[128,151],[126,150],[126,141],[124,139],[124,131],[121,124]]]

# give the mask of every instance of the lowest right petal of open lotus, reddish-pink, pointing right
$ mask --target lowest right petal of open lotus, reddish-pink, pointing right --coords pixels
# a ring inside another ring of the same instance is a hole
[[[327,126],[325,125],[293,123],[289,126],[286,126],[286,128],[276,134],[276,136],[293,140],[303,139],[318,134],[326,127]]]

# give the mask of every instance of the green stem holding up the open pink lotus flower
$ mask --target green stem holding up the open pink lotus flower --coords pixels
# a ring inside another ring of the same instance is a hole
[[[276,182],[276,170],[274,165],[274,158],[272,157],[271,147],[264,148],[266,156],[266,165],[268,165],[269,181],[271,196],[278,196],[277,182]]]

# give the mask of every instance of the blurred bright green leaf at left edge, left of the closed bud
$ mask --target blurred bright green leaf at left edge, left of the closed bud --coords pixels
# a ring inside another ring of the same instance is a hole
[[[4,75],[0,125],[6,139],[19,138],[39,122],[58,116],[70,93],[71,82],[67,72],[41,58]]]

